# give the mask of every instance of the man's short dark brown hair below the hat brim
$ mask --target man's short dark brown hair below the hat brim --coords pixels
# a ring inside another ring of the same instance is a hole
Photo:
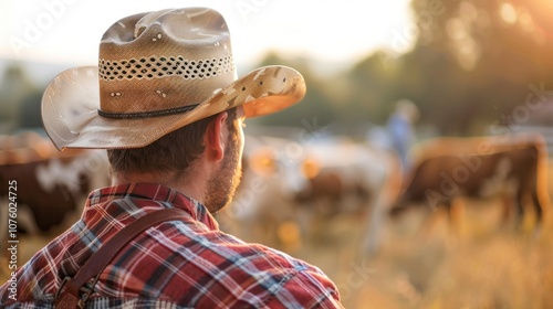
[[[237,119],[237,108],[226,111],[228,113],[227,127],[232,130],[232,124]],[[112,171],[115,173],[171,171],[186,173],[206,149],[204,134],[209,122],[218,115],[179,128],[143,148],[108,149],[107,158]]]

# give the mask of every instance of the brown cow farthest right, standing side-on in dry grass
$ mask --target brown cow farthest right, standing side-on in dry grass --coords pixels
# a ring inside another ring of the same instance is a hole
[[[507,211],[514,204],[519,221],[526,201],[531,202],[538,223],[549,209],[547,154],[540,136],[439,138],[420,147],[418,157],[392,209],[393,215],[411,205],[429,210],[445,206],[451,212],[458,198],[498,194]]]

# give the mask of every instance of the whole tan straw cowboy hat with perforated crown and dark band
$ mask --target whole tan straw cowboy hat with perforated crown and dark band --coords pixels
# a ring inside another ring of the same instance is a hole
[[[303,98],[286,66],[238,78],[225,19],[206,8],[135,14],[100,43],[98,66],[58,75],[42,98],[44,128],[58,149],[138,148],[232,107],[262,116]]]

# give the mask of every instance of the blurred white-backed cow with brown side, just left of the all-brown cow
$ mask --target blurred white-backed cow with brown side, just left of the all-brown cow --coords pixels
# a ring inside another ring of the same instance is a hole
[[[359,247],[375,253],[385,212],[399,191],[399,158],[366,142],[331,139],[306,145],[303,166],[309,187],[298,200],[307,207],[311,221],[324,226],[336,215],[356,217],[365,234]]]

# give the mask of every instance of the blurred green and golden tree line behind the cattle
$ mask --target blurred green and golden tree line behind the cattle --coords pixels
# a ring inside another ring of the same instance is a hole
[[[408,98],[420,109],[419,125],[442,135],[478,135],[490,125],[513,121],[517,107],[536,89],[553,92],[551,0],[413,0],[411,9],[414,23],[390,33],[392,49],[331,75],[317,73],[309,58],[269,53],[259,65],[296,68],[307,94],[302,104],[251,121],[383,125],[394,103]],[[410,38],[416,38],[413,49],[398,52]],[[41,126],[42,87],[17,66],[2,81],[0,127]]]

